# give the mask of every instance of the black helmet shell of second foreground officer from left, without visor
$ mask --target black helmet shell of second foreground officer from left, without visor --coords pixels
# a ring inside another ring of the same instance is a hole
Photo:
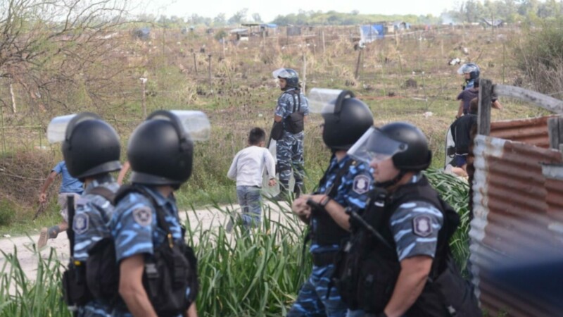
[[[170,111],[155,111],[131,135],[127,158],[131,181],[177,189],[191,175],[194,143]]]

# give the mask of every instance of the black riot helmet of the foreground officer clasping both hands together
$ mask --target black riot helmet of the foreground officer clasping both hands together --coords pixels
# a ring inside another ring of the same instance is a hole
[[[343,90],[336,100],[325,106],[322,118],[322,140],[333,151],[350,149],[374,124],[372,111],[349,90]]]

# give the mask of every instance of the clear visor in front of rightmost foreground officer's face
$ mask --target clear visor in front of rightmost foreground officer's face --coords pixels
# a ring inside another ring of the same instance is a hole
[[[384,161],[393,155],[406,151],[408,145],[384,135],[378,128],[369,128],[355,144],[348,149],[348,155],[356,161],[371,163]]]

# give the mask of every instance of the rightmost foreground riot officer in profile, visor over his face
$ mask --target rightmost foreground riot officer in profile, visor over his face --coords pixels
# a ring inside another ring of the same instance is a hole
[[[409,123],[370,128],[348,151],[374,170],[375,189],[337,263],[336,285],[365,316],[481,316],[472,288],[455,268],[448,240],[459,216],[422,170],[426,137]]]

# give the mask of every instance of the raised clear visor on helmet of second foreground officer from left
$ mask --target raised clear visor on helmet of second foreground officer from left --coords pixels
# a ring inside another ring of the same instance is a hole
[[[153,120],[176,120],[172,113],[177,118],[177,123],[182,127],[184,132],[187,132],[194,141],[207,141],[211,132],[211,124],[208,117],[202,111],[194,110],[170,110],[170,111],[156,111],[151,114],[148,119]]]

